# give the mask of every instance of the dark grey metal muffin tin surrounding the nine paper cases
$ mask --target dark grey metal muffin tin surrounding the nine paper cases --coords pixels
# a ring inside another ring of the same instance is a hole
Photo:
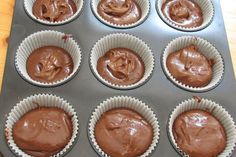
[[[100,22],[91,10],[91,1],[84,1],[83,11],[74,21],[59,25],[42,25],[32,20],[24,10],[24,2],[16,1],[13,25],[4,82],[0,96],[0,152],[5,157],[14,156],[5,139],[5,124],[11,109],[21,100],[34,94],[53,94],[67,100],[75,109],[79,121],[79,133],[73,148],[65,156],[94,157],[99,156],[90,145],[88,138],[88,123],[94,109],[104,100],[114,96],[132,96],[148,104],[156,114],[160,125],[158,146],[150,156],[178,156],[168,138],[168,119],[173,109],[182,101],[200,96],[212,100],[224,107],[236,120],[235,93],[236,83],[230,58],[220,0],[212,0],[214,17],[211,24],[195,32],[184,32],[168,26],[158,15],[156,0],[150,0],[150,13],[140,25],[117,29]],[[34,86],[17,73],[14,60],[20,43],[29,35],[42,30],[56,30],[72,34],[73,39],[80,45],[82,60],[80,70],[65,84],[56,87]],[[94,44],[102,37],[112,33],[127,33],[143,40],[152,50],[155,67],[149,80],[141,86],[119,90],[102,84],[90,69],[89,57]],[[161,66],[161,56],[170,41],[181,36],[197,36],[206,39],[220,52],[224,60],[222,81],[214,89],[205,92],[190,92],[177,87],[166,77]],[[236,153],[232,155],[236,157]]]

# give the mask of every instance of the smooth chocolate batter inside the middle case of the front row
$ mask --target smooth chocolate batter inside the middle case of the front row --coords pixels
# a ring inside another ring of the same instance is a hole
[[[137,157],[151,145],[153,129],[137,112],[117,108],[100,117],[95,138],[100,148],[112,157]]]

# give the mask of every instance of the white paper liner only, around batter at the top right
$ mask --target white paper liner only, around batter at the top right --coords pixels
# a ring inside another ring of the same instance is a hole
[[[161,17],[161,19],[171,27],[174,27],[174,28],[181,30],[181,31],[202,30],[202,29],[206,28],[208,25],[210,25],[210,23],[213,20],[214,5],[211,0],[192,0],[192,1],[197,3],[198,6],[202,9],[203,23],[198,27],[188,27],[188,28],[182,27],[182,26],[177,25],[177,23],[175,23],[171,19],[168,19],[167,17],[165,17],[164,14],[162,13],[161,8],[162,8],[163,3],[166,2],[166,0],[157,0],[156,9],[157,9],[157,12],[158,12],[159,16]]]

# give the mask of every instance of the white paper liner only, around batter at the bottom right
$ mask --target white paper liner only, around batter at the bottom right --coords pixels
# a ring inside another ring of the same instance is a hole
[[[220,123],[225,128],[226,136],[227,136],[227,144],[225,147],[225,150],[218,155],[217,157],[230,157],[234,151],[234,148],[236,146],[236,126],[234,123],[233,118],[231,115],[219,104],[207,100],[207,99],[201,99],[200,102],[198,100],[192,98],[183,101],[180,103],[171,113],[169,122],[168,122],[168,133],[169,133],[169,139],[172,143],[172,145],[175,147],[175,149],[184,157],[189,157],[186,153],[184,153],[177,145],[173,132],[172,127],[175,119],[183,112],[189,111],[192,109],[201,109],[205,111],[210,111],[211,114],[216,117]]]

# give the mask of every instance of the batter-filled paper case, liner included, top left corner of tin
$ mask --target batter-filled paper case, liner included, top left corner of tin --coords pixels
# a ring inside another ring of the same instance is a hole
[[[26,13],[46,25],[71,22],[82,11],[84,0],[24,0]]]

